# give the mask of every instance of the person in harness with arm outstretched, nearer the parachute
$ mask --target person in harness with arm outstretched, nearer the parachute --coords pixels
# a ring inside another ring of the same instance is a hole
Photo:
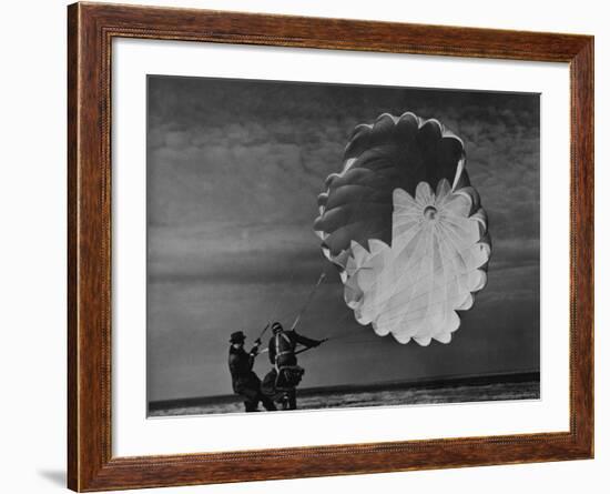
[[[296,386],[301,382],[305,370],[297,365],[296,345],[311,349],[318,346],[323,341],[313,340],[296,331],[284,331],[284,327],[278,322],[274,322],[271,326],[273,336],[270,340],[270,362],[274,366],[265,381],[275,379],[275,387],[277,391],[284,391],[287,396],[287,410],[296,410]]]

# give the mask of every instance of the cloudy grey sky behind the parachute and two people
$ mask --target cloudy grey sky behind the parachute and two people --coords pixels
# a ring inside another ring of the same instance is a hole
[[[457,133],[489,215],[487,288],[448,345],[400,345],[354,321],[313,232],[352,129],[413,111]],[[305,313],[304,386],[539,369],[539,97],[149,77],[150,400],[231,393],[228,334]],[[265,356],[255,370],[268,371]]]

